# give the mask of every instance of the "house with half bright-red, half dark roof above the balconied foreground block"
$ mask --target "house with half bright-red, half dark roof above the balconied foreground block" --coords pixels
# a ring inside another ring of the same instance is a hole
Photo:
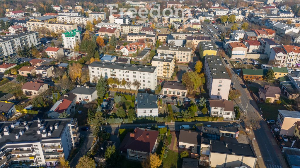
[[[48,117],[58,118],[63,112],[71,114],[75,111],[76,95],[72,93],[62,96],[47,113]]]

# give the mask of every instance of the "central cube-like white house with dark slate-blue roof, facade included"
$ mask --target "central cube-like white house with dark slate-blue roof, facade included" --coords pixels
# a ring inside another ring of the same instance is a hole
[[[156,95],[137,94],[137,117],[158,116],[158,100]]]

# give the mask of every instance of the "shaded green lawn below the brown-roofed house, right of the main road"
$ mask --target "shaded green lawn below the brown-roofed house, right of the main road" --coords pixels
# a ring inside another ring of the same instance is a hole
[[[278,116],[278,110],[287,110],[282,105],[272,105],[272,104],[259,104],[262,108],[262,115],[268,120],[276,120]]]

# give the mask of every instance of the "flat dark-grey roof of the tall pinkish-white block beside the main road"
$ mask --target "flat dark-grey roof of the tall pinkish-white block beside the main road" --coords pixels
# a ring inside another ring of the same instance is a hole
[[[213,79],[230,79],[220,56],[207,55],[205,56],[205,61],[208,64]],[[205,70],[205,73],[206,71],[207,70]]]

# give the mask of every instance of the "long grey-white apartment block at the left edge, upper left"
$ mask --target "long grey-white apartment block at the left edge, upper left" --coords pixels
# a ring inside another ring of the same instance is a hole
[[[40,45],[38,39],[38,32],[25,32],[18,35],[6,36],[0,39],[0,58],[8,58],[17,53],[18,46],[24,48],[25,46]]]

